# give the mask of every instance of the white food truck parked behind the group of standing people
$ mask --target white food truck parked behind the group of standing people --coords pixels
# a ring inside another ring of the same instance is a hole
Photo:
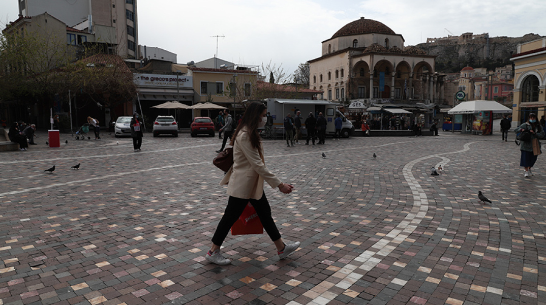
[[[268,112],[271,113],[273,117],[273,126],[275,129],[284,129],[284,118],[288,113],[295,116],[296,112],[301,111],[301,132],[307,134],[305,130],[305,119],[309,116],[309,113],[313,113],[314,117],[318,116],[319,112],[323,113],[323,116],[326,118],[328,124],[326,125],[326,134],[334,135],[335,127],[334,120],[336,119],[336,114],[341,115],[343,120],[343,127],[341,129],[342,137],[349,137],[354,133],[354,126],[351,121],[349,121],[343,113],[337,110],[337,104],[331,103],[327,100],[310,100],[310,99],[266,99],[268,106]]]

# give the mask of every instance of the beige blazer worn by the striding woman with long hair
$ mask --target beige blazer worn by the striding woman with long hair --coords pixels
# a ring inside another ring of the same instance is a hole
[[[265,166],[258,149],[252,147],[247,129],[243,128],[235,138],[233,166],[225,174],[220,185],[229,182],[229,196],[242,199],[260,199],[264,193],[264,180],[272,188],[276,188],[281,184],[281,180]]]

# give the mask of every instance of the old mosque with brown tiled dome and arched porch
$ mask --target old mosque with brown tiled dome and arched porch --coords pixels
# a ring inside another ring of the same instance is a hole
[[[443,79],[435,56],[404,46],[401,34],[361,17],[322,42],[322,56],[311,59],[310,89],[331,101],[442,103]]]

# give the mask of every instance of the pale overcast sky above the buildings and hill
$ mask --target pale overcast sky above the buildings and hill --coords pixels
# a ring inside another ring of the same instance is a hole
[[[0,23],[17,18],[18,0],[0,0]],[[138,0],[139,43],[177,54],[179,63],[215,56],[230,62],[298,64],[321,56],[321,42],[347,23],[380,21],[405,45],[450,32],[490,37],[546,35],[545,0]]]

